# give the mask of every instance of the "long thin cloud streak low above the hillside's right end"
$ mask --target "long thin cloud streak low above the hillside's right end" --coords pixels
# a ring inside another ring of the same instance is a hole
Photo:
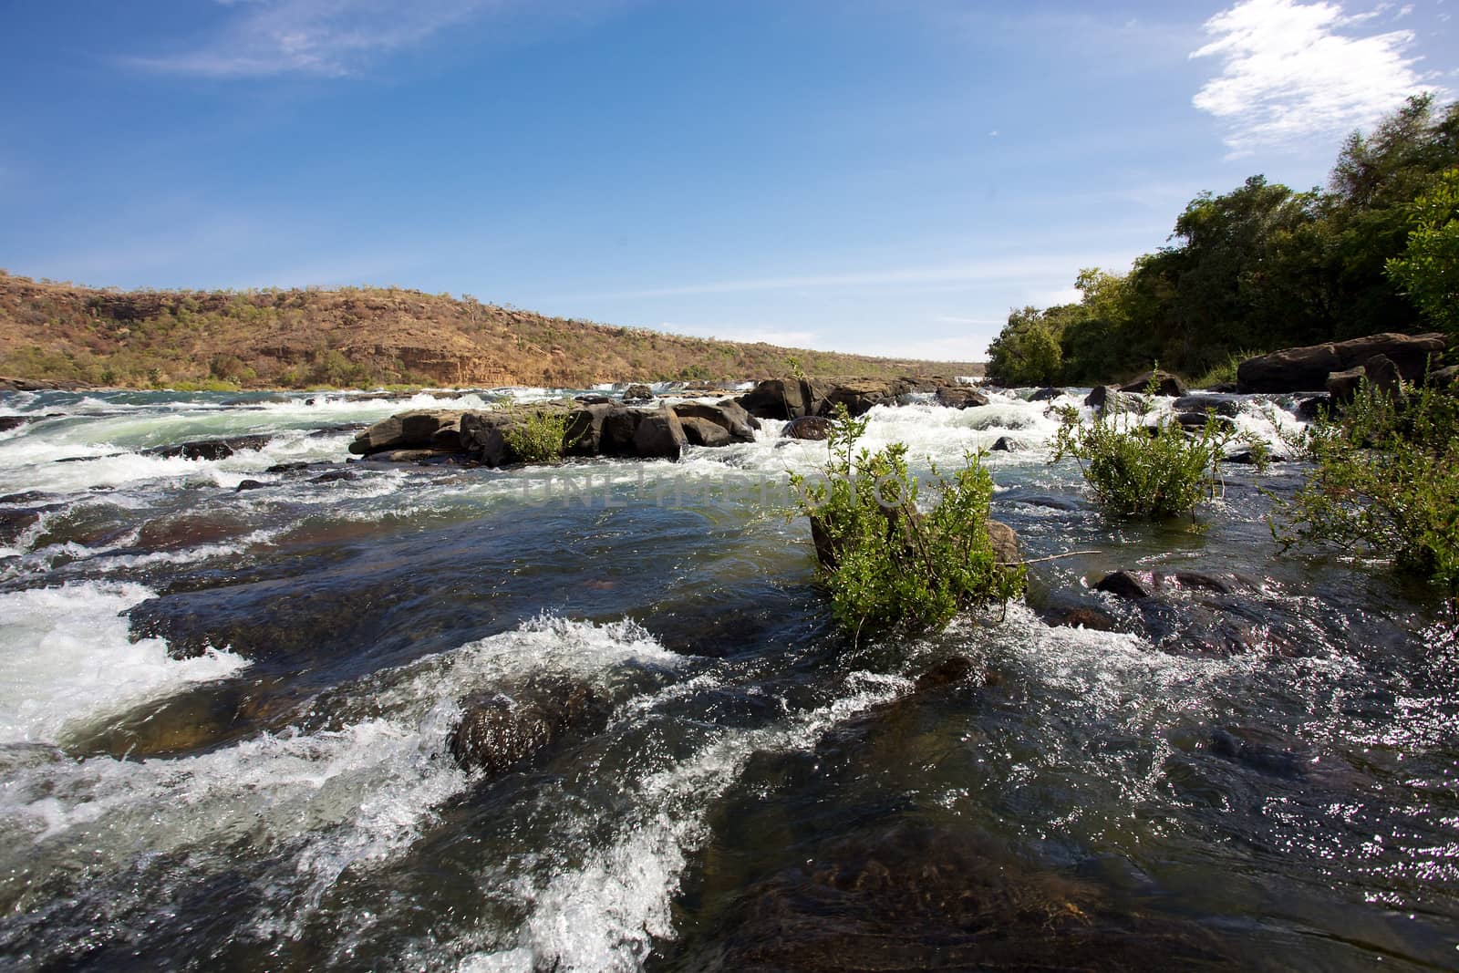
[[[690,295],[744,293],[757,290],[817,290],[824,287],[922,287],[948,283],[975,283],[980,280],[1027,282],[1049,276],[1068,276],[1071,267],[1103,265],[1107,260],[1084,255],[1011,257],[1002,260],[979,260],[961,264],[937,264],[931,267],[899,267],[891,270],[868,270],[836,274],[807,274],[786,277],[748,277],[744,280],[716,280],[708,283],[645,287],[642,290],[614,290],[608,293],[575,295],[579,299],[622,298],[678,298]]]

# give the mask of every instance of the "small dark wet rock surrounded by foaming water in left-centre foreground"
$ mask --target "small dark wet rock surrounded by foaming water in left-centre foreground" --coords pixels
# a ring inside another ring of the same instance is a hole
[[[535,684],[521,696],[480,694],[463,703],[461,721],[446,741],[458,766],[503,773],[587,721],[594,705],[584,683]]]

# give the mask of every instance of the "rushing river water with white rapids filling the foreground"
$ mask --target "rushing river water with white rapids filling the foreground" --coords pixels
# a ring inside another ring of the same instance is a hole
[[[0,963],[1459,967],[1459,646],[1428,592],[1278,554],[1259,489],[1299,465],[1228,467],[1204,532],[1112,525],[1045,403],[878,407],[867,445],[924,470],[1015,439],[995,515],[1093,551],[913,643],[830,627],[781,509],[824,445],[779,423],[340,465],[346,426],[549,394],[0,398],[32,419],[0,432]],[[238,433],[271,438],[143,454]],[[1131,604],[1090,589],[1116,567],[1224,581]],[[600,719],[458,769],[463,700],[544,677]]]

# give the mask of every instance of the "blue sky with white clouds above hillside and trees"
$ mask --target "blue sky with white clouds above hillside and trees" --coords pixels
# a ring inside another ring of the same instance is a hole
[[[0,0],[0,267],[978,359],[1453,98],[1459,0]]]

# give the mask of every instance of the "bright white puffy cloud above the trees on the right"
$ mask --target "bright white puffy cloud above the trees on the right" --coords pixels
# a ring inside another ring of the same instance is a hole
[[[1205,22],[1214,39],[1191,57],[1218,57],[1223,69],[1192,102],[1227,123],[1233,156],[1371,125],[1425,88],[1408,53],[1412,31],[1339,34],[1380,10],[1347,15],[1326,0],[1243,0]]]

